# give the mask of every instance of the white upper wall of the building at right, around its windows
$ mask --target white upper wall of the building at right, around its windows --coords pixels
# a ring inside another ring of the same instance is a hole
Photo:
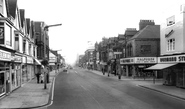
[[[180,5],[174,5],[164,11],[161,24],[161,55],[169,55],[169,54],[178,54],[178,53],[185,53],[185,37],[184,37],[184,19],[185,13],[180,13]],[[171,26],[167,26],[167,18],[175,16],[175,24]],[[165,37],[165,34],[168,34],[171,30],[174,32]],[[175,38],[175,50],[174,51],[167,51],[167,40],[170,38]],[[182,45],[182,46],[179,46]]]

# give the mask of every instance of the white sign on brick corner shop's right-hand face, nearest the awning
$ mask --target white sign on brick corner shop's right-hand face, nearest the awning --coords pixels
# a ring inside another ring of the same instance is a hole
[[[135,57],[135,63],[157,63],[156,57]]]

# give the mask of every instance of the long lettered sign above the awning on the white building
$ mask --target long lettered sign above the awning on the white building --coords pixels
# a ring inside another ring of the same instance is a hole
[[[185,55],[159,57],[158,62],[159,63],[185,63]]]

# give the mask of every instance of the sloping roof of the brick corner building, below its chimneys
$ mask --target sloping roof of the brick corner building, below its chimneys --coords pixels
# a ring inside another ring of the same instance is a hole
[[[145,28],[136,33],[132,39],[160,39],[160,25],[147,25]]]

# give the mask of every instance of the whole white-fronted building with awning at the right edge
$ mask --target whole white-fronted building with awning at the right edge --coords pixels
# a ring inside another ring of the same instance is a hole
[[[147,68],[162,71],[164,84],[185,88],[185,5],[173,5],[162,17],[161,56]]]

